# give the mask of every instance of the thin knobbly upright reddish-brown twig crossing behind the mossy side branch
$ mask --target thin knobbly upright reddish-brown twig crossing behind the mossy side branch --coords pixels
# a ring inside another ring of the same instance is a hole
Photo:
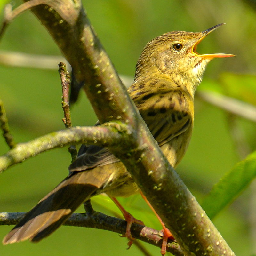
[[[59,73],[62,86],[62,108],[64,112],[63,123],[65,124],[66,129],[72,127],[70,108],[69,108],[69,88],[70,88],[70,75],[67,71],[66,64],[63,62],[59,63]],[[70,145],[68,147],[68,152],[71,155],[72,162],[76,160],[77,150],[76,145]]]

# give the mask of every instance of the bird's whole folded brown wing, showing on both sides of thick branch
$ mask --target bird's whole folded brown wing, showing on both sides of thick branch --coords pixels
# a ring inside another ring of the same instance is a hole
[[[167,88],[157,92],[137,92],[130,91],[132,99],[159,146],[185,132],[193,122],[194,108],[189,105],[192,101],[181,90],[170,91]],[[78,158],[69,166],[69,171],[83,171],[119,161],[108,148],[82,145]]]

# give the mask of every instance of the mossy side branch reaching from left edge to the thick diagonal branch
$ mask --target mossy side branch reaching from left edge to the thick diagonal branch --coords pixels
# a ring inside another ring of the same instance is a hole
[[[0,156],[0,173],[8,167],[21,163],[52,148],[70,144],[94,144],[108,147],[123,144],[124,137],[130,135],[125,124],[109,122],[99,126],[74,127],[58,132],[52,132],[42,137],[17,144],[3,156]]]

